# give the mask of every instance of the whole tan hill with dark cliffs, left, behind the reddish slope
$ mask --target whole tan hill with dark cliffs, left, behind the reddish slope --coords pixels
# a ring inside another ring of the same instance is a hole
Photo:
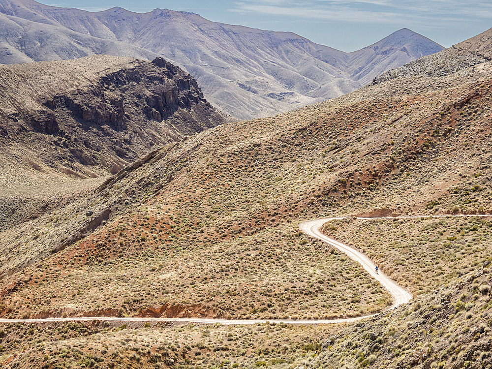
[[[10,168],[2,169],[18,173],[14,183],[0,176],[0,188],[116,173],[156,146],[225,122],[196,81],[162,58],[2,66],[0,86],[0,155]]]

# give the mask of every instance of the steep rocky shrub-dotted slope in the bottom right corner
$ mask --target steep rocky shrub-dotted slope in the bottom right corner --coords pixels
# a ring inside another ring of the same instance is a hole
[[[333,334],[307,368],[491,367],[490,265],[489,259],[405,309]]]

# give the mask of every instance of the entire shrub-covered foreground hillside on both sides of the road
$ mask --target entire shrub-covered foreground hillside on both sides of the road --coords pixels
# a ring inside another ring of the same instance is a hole
[[[303,235],[298,223],[332,215],[490,214],[491,76],[486,61],[445,75],[391,78],[159,148],[60,211],[0,233],[2,316],[316,319],[382,311],[391,302],[381,286]],[[75,325],[64,337],[33,326],[22,340],[26,349],[5,343],[3,364],[490,364],[490,217],[347,219],[325,230],[368,253],[414,293],[412,304],[328,328],[329,337],[325,327],[304,335],[282,325],[258,325],[253,333],[187,326],[180,335],[174,328]],[[12,329],[2,334],[6,342]],[[267,333],[282,341],[265,348]],[[47,345],[36,348],[34,334]],[[76,342],[80,350],[68,348]]]

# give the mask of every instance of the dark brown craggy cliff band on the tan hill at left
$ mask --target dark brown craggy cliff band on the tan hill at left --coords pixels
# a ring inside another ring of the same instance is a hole
[[[146,88],[134,89],[136,86]],[[132,90],[138,91],[124,93]],[[50,112],[45,114],[47,127],[56,123],[53,111],[64,111],[77,122],[107,124],[117,131],[128,129],[127,122],[135,119],[132,113],[139,108],[148,120],[162,122],[178,109],[190,110],[197,104],[213,109],[193,77],[163,58],[105,75],[98,85],[43,101]],[[45,133],[57,130],[50,128]]]

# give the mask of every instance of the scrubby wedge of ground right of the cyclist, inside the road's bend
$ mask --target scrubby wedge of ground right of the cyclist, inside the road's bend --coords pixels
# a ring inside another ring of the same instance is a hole
[[[415,294],[429,294],[483,265],[492,252],[491,218],[343,219],[323,231],[367,254]]]

